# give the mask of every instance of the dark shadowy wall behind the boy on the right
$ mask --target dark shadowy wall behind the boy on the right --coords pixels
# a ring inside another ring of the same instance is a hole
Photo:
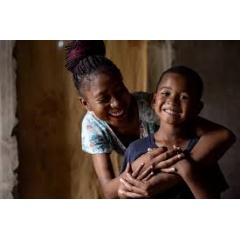
[[[240,198],[240,41],[174,41],[174,64],[199,72],[205,84],[202,116],[231,129],[237,142],[220,160],[230,188],[223,198]]]

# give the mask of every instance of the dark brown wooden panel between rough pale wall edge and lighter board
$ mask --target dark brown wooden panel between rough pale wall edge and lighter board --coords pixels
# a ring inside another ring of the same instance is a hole
[[[70,196],[68,88],[56,41],[17,41],[20,198]]]

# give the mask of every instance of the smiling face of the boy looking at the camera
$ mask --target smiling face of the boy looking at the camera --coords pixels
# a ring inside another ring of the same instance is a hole
[[[193,84],[180,74],[167,73],[158,86],[152,106],[161,122],[179,124],[196,117],[202,103],[197,100]]]

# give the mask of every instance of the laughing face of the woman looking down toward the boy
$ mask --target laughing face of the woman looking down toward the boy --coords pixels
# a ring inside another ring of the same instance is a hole
[[[90,87],[84,92],[81,103],[96,117],[114,127],[120,127],[128,121],[131,95],[119,77],[105,73],[91,74]]]

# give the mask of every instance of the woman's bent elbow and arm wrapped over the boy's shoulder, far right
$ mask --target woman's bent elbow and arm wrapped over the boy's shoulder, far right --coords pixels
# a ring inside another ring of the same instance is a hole
[[[201,117],[196,121],[196,134],[200,139],[190,157],[203,166],[217,163],[236,141],[229,129]]]

